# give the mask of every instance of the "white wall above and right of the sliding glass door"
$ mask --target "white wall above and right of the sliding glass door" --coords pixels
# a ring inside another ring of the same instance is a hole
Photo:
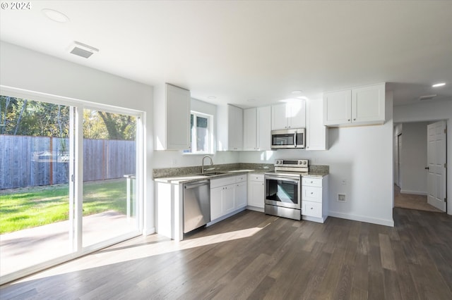
[[[2,86],[144,112],[145,231],[153,232],[153,87],[5,42],[0,53]]]

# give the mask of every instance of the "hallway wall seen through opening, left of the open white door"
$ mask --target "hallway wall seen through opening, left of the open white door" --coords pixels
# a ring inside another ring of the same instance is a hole
[[[403,123],[401,187],[406,194],[427,195],[427,122]]]

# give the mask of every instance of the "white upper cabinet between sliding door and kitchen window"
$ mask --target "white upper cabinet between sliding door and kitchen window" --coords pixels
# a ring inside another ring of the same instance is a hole
[[[165,83],[155,88],[155,149],[190,149],[190,91]]]

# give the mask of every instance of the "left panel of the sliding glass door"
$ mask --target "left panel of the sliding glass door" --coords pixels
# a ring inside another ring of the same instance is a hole
[[[70,111],[0,96],[2,279],[73,253]]]

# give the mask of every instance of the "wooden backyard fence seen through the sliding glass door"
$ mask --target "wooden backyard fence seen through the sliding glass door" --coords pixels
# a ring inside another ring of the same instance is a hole
[[[83,139],[83,181],[135,173],[134,141]],[[0,135],[0,189],[69,182],[69,139]]]

